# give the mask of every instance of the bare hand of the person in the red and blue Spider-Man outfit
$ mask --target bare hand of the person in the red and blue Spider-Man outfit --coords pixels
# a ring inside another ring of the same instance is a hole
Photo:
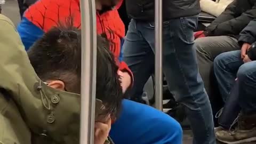
[[[120,71],[120,70],[117,71],[117,74],[120,76],[119,80],[121,81],[121,86],[122,86],[123,93],[125,93],[125,91],[128,89],[128,87],[132,83],[132,78],[129,75],[129,73],[123,72],[123,71]]]

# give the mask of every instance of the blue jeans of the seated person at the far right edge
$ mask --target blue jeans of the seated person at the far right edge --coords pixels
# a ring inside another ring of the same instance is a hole
[[[244,63],[241,51],[225,52],[214,60],[214,73],[223,100],[229,97],[231,87],[238,78],[238,103],[244,113],[256,112],[256,61]]]

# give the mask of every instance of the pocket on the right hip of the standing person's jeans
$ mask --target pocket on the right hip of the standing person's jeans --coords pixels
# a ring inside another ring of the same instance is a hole
[[[197,21],[198,21],[197,15],[193,17],[180,18],[180,21],[183,28],[183,33],[185,35],[185,41],[187,43],[194,43],[194,40],[195,40],[194,31],[197,28]]]

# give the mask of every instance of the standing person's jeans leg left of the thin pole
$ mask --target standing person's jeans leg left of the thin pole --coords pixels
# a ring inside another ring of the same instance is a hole
[[[123,45],[123,61],[127,63],[134,76],[133,88],[129,93],[131,99],[142,102],[143,87],[154,72],[155,56],[133,19]]]

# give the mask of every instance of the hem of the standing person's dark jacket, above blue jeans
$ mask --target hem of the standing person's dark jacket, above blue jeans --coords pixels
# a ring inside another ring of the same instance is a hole
[[[159,0],[163,1],[163,20],[188,17],[201,12],[199,0]],[[141,21],[155,20],[155,0],[126,1],[129,17]]]

